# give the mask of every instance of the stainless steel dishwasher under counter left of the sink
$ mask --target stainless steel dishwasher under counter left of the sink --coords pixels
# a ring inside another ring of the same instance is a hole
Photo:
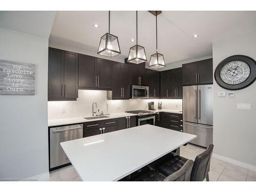
[[[50,128],[50,169],[70,163],[61,142],[82,138],[83,124]]]

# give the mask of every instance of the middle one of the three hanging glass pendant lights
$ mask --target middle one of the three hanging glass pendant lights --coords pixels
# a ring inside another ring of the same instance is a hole
[[[145,49],[138,45],[138,11],[136,11],[136,45],[130,48],[127,62],[142,63],[147,61]]]

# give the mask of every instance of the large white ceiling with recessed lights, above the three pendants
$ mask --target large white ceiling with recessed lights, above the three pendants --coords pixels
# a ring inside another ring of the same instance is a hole
[[[98,24],[99,28],[93,27]],[[165,62],[212,55],[212,42],[256,29],[256,11],[163,11],[158,16],[158,49]],[[58,11],[50,40],[71,43],[97,52],[100,37],[108,32],[108,11]],[[111,34],[118,36],[121,54],[127,57],[136,42],[136,12],[112,11]],[[147,60],[156,49],[155,17],[138,11],[138,44]],[[198,34],[198,38],[193,38]]]

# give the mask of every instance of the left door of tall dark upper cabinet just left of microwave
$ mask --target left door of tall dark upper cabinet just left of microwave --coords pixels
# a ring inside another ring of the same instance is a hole
[[[112,62],[112,98],[121,99],[121,64]]]

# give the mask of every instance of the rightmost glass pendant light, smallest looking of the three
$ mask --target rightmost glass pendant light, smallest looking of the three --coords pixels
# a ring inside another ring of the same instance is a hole
[[[156,53],[151,55],[150,65],[148,65],[148,67],[155,68],[155,69],[165,67],[163,54],[158,53],[158,49],[157,49],[157,11],[156,11]]]

